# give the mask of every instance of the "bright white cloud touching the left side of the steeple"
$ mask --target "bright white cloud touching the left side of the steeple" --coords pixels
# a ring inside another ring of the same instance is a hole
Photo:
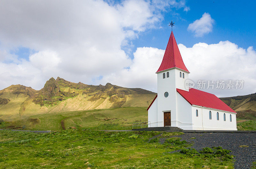
[[[130,88],[145,88],[156,91],[156,70],[164,56],[164,50],[153,47],[139,47],[133,53],[134,59],[129,69],[123,69],[104,76],[100,83],[111,82]]]

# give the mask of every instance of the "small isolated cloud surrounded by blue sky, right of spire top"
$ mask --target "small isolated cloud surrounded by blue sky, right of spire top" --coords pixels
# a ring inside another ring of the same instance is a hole
[[[212,24],[214,20],[209,13],[204,13],[202,18],[195,20],[188,25],[188,31],[195,33],[195,37],[202,37],[205,34],[212,32]]]

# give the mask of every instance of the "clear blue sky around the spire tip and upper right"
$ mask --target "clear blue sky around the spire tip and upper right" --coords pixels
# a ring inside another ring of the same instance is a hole
[[[164,49],[168,42],[171,27],[169,22],[173,20],[175,26],[173,32],[177,43],[192,47],[199,42],[215,44],[220,41],[230,41],[239,47],[248,48],[256,46],[256,1],[187,1],[190,10],[168,10],[163,12],[164,20],[161,29],[152,29],[141,32],[140,38],[132,41],[133,50],[137,47],[152,46]],[[212,32],[203,37],[194,37],[188,32],[188,25],[202,17],[204,12],[209,13],[214,19]]]

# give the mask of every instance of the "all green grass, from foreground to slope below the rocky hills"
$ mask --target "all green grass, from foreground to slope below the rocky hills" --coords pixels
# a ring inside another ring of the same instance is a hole
[[[0,168],[233,168],[233,158],[221,148],[212,149],[218,156],[208,148],[185,150],[191,144],[179,141],[181,132],[99,131],[131,129],[132,123],[147,121],[146,109],[52,112],[0,122],[0,128],[53,130],[44,134],[0,130]],[[238,123],[237,129],[256,130],[256,122]],[[172,135],[177,136],[169,138]],[[160,144],[162,138],[169,139]],[[175,150],[182,151],[170,153]]]

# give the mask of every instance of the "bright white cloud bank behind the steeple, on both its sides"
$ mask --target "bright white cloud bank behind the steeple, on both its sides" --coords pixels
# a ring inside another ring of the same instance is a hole
[[[198,43],[193,47],[179,44],[183,61],[188,68],[189,78],[198,80],[244,80],[243,89],[206,89],[219,97],[246,95],[256,92],[256,52],[252,47],[243,49],[229,41],[218,44]],[[156,70],[163,59],[164,50],[152,47],[137,48],[130,69],[123,69],[104,77],[124,87],[141,87],[157,92]],[[207,85],[206,85],[207,87]],[[196,88],[196,86],[195,86]]]

